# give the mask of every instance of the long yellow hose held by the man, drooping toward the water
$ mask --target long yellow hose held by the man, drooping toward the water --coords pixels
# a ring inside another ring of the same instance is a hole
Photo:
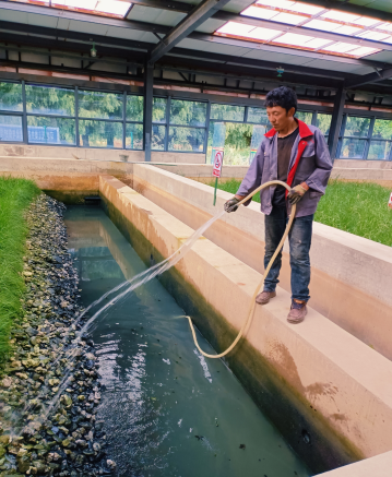
[[[282,182],[282,181],[280,181],[280,180],[271,180],[270,182],[265,182],[265,183],[263,183],[262,186],[258,187],[253,192],[251,192],[249,195],[247,195],[245,199],[242,199],[240,202],[238,202],[238,205],[241,205],[241,204],[243,204],[243,202],[247,202],[250,198],[252,198],[256,193],[258,193],[258,192],[261,191],[262,189],[264,189],[264,188],[266,188],[266,187],[270,187],[270,186],[274,186],[274,184],[276,184],[276,186],[283,186],[283,187],[285,187],[288,191],[290,190],[290,187],[287,186],[287,183]],[[225,351],[221,353],[219,355],[209,355],[207,353],[204,353],[204,351],[201,349],[201,347],[199,346],[199,343],[198,343],[198,338],[197,338],[197,335],[195,335],[195,332],[194,332],[194,327],[193,327],[192,320],[190,319],[190,317],[187,317],[187,318],[188,318],[188,321],[189,321],[189,325],[190,325],[191,331],[192,331],[192,335],[193,335],[194,344],[195,344],[197,348],[199,349],[199,351],[200,351],[203,356],[205,356],[206,358],[222,358],[222,357],[226,356],[228,353],[231,351],[231,349],[233,349],[233,348],[237,345],[237,343],[241,339],[241,336],[246,333],[246,331],[247,331],[247,329],[248,329],[248,325],[249,325],[250,322],[252,321],[252,317],[253,317],[253,312],[254,312],[254,307],[256,307],[256,297],[258,296],[258,294],[259,294],[259,291],[260,291],[260,288],[262,287],[262,285],[263,285],[263,283],[264,283],[264,279],[265,279],[266,275],[269,274],[272,264],[274,263],[274,261],[275,261],[277,254],[280,253],[281,249],[283,248],[283,245],[284,245],[284,242],[285,242],[285,240],[286,240],[286,237],[288,236],[288,232],[289,232],[289,230],[290,230],[290,228],[292,228],[292,225],[293,225],[293,222],[294,222],[294,217],[295,217],[295,214],[296,214],[296,210],[297,210],[297,204],[294,204],[294,205],[292,206],[292,214],[290,214],[290,216],[289,216],[288,223],[287,223],[287,225],[286,225],[286,230],[285,230],[285,232],[283,234],[282,240],[281,240],[280,245],[277,246],[277,248],[276,248],[276,250],[275,250],[275,253],[272,255],[272,258],[271,258],[271,260],[270,260],[270,263],[269,263],[268,267],[266,267],[265,271],[264,271],[264,275],[263,275],[261,282],[259,283],[259,285],[257,286],[257,288],[256,288],[256,290],[254,290],[254,294],[253,294],[253,296],[252,296],[252,298],[251,298],[251,300],[250,300],[250,307],[249,307],[248,318],[247,318],[247,320],[245,321],[245,323],[242,324],[242,326],[241,326],[241,329],[240,329],[240,331],[239,331],[239,333],[238,333],[236,339],[231,343],[231,345],[230,345],[230,346],[229,346]]]

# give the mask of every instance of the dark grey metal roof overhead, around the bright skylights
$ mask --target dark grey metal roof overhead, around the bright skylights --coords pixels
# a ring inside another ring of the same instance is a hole
[[[119,61],[126,60],[131,63],[133,60],[135,64],[143,64],[153,58],[159,68],[166,63],[173,68],[175,58],[179,63],[181,58],[183,61],[197,58],[193,62],[195,71],[204,67],[212,71],[214,64],[221,64],[219,71],[222,71],[222,65],[225,65],[225,71],[230,73],[230,64],[235,64],[239,59],[248,59],[250,61],[243,67],[243,74],[247,74],[246,68],[252,69],[253,73],[258,69],[260,77],[265,76],[265,70],[273,71],[272,64],[275,64],[275,68],[282,67],[290,71],[293,81],[314,86],[321,84],[318,83],[319,75],[314,75],[314,70],[319,70],[320,76],[325,77],[328,77],[328,72],[331,72],[332,76],[333,72],[347,73],[351,88],[355,88],[358,83],[361,90],[368,87],[371,90],[377,85],[381,92],[383,87],[387,92],[387,88],[392,85],[392,82],[388,81],[392,77],[392,72],[389,74],[389,69],[392,69],[392,41],[380,44],[369,38],[360,38],[360,45],[373,45],[381,51],[363,58],[344,58],[326,55],[320,50],[309,51],[289,48],[284,44],[260,43],[252,38],[216,36],[215,32],[228,21],[242,22],[242,24],[248,21],[248,19],[241,19],[240,12],[253,4],[254,0],[203,0],[203,2],[134,0],[132,4],[126,0],[119,1],[129,3],[131,7],[127,19],[0,0],[0,43],[7,41],[9,47],[17,46],[21,50],[32,47],[40,48],[44,53],[48,53],[50,46],[56,46],[57,49],[73,51],[75,55],[85,51],[83,53],[85,57],[94,41],[98,52],[105,51],[105,58],[111,57],[112,61],[117,58]],[[83,1],[80,0],[80,3]],[[293,0],[287,3],[295,2]],[[302,3],[331,8],[331,2],[328,0],[302,0]],[[161,8],[157,8],[158,5]],[[365,16],[371,16],[378,12],[377,14],[382,15],[383,22],[392,22],[391,1],[349,0],[340,3],[338,8],[347,13],[354,12]],[[257,22],[260,19],[253,20],[253,23],[258,25]],[[287,32],[297,33],[295,28],[298,28],[297,25],[282,22],[282,25],[277,24],[278,22],[272,24],[272,21],[265,21],[265,19],[261,22],[266,22],[263,23],[264,27],[269,25],[272,28],[284,28],[281,32],[282,35]],[[304,27],[299,26],[299,28]],[[325,34],[324,31],[319,31],[319,33],[311,31],[311,34],[318,37],[330,37],[332,43],[343,37],[343,35],[336,36],[338,34],[333,34],[333,32]],[[48,41],[46,49],[40,39],[43,36],[54,40],[52,45]],[[353,41],[353,35],[351,38],[351,40],[343,39]],[[354,41],[357,40],[358,38],[355,37]],[[211,59],[209,55],[216,57]],[[218,56],[222,58],[217,58]],[[96,61],[104,61],[104,58],[98,58]],[[0,60],[0,64],[5,63],[7,60]],[[263,68],[263,64],[268,67]],[[298,67],[297,71],[295,67]],[[234,67],[231,69],[235,74],[238,74]],[[306,71],[308,74],[304,75]],[[378,73],[371,76],[375,71]],[[357,76],[357,83],[355,76]],[[365,83],[364,80],[366,80]],[[340,81],[344,87],[344,77]]]

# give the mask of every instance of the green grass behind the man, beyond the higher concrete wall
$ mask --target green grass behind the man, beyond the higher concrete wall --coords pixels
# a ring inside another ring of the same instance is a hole
[[[235,194],[239,184],[240,181],[231,179],[218,183],[218,188]],[[391,190],[376,183],[330,180],[314,220],[392,247],[390,193]],[[260,195],[253,195],[253,201],[260,202]]]

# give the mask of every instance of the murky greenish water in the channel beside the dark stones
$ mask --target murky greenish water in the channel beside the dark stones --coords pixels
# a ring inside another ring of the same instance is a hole
[[[66,224],[85,307],[146,269],[102,208],[70,206]],[[199,354],[183,314],[154,278],[94,323],[117,475],[310,476],[224,362]]]

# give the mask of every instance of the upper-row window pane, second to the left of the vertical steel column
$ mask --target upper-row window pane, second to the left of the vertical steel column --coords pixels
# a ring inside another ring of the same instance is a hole
[[[122,94],[79,91],[81,118],[122,119]]]

